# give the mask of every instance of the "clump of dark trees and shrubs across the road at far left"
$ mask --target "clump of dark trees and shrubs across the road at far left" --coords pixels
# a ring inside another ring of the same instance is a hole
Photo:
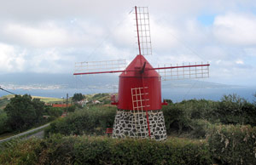
[[[9,99],[10,97],[3,97]],[[60,117],[62,110],[44,105],[40,99],[25,94],[15,95],[0,111],[0,134],[24,131]],[[44,116],[48,118],[44,118]]]

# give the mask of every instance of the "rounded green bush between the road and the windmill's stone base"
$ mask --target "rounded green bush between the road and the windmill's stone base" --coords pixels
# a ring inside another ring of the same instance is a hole
[[[45,135],[55,134],[104,134],[106,128],[113,127],[115,107],[94,106],[89,110],[70,113],[67,117],[58,119],[45,130]]]

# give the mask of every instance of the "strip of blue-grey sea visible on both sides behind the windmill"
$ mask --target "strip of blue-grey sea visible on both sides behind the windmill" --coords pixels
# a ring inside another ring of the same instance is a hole
[[[109,88],[57,88],[57,89],[8,89],[15,94],[31,94],[42,97],[61,98],[73,96],[75,93],[98,94],[98,93],[117,93],[117,90]],[[230,87],[230,88],[162,88],[162,99],[180,102],[182,100],[221,100],[224,94],[237,94],[247,101],[256,101],[253,94],[256,93],[256,87]],[[7,95],[0,91],[0,96]]]

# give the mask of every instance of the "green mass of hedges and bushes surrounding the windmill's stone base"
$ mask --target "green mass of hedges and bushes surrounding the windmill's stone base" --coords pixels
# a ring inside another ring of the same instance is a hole
[[[86,98],[108,102],[110,95]],[[162,111],[171,138],[166,141],[99,136],[113,127],[116,107],[73,107],[50,124],[46,139],[0,151],[0,164],[256,164],[255,102],[236,94],[219,101],[167,102]]]

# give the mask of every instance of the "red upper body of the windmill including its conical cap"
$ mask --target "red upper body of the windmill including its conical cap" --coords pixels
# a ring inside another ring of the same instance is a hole
[[[160,75],[152,68],[143,55],[137,55],[125,71],[120,74],[118,109],[133,110],[131,88],[146,88],[143,89],[146,90],[143,92],[148,94],[143,95],[143,99],[148,99],[144,102],[148,107],[143,110],[161,109]]]

